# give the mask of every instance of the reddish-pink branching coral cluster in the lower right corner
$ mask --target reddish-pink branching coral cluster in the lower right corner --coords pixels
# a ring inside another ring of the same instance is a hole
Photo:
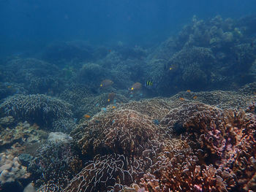
[[[165,148],[140,185],[146,191],[255,190],[255,116],[205,104],[181,109],[178,120],[185,122],[183,139],[189,147]],[[169,125],[177,118],[169,115]]]

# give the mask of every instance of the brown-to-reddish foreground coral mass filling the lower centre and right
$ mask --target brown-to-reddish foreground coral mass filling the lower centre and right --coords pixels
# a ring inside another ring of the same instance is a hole
[[[255,119],[174,97],[118,104],[72,131],[94,160],[65,191],[253,191]]]

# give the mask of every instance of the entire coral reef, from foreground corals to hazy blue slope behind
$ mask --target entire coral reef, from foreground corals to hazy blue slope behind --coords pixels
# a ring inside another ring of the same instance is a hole
[[[56,42],[4,61],[0,191],[256,191],[244,20],[194,17],[155,50]]]

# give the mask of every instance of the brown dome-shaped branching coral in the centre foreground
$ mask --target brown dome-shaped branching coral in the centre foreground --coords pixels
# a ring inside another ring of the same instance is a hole
[[[143,148],[152,146],[150,141],[159,139],[159,131],[153,120],[134,110],[115,110],[94,117],[86,123],[79,140],[83,153],[94,150],[111,150],[126,155],[139,155]],[[80,131],[78,133],[80,134]]]

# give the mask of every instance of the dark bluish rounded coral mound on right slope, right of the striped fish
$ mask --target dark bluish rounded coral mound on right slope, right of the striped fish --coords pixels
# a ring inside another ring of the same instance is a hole
[[[169,88],[178,86],[179,89],[192,87],[196,90],[206,88],[212,81],[211,72],[214,71],[215,65],[215,57],[211,49],[184,48],[168,61],[167,68],[171,70],[165,71],[160,86],[165,85]]]

